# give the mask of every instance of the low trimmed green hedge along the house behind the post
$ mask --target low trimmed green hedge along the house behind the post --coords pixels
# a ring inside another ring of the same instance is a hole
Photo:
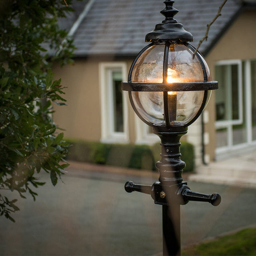
[[[135,144],[107,144],[82,140],[66,139],[71,144],[67,160],[106,164],[136,169],[156,170],[156,162],[160,160],[161,146]],[[194,170],[194,147],[182,142],[181,159],[186,162],[185,172]]]

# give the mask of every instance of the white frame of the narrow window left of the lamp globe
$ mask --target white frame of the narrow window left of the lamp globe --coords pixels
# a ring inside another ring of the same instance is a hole
[[[122,70],[122,81],[127,80],[126,62],[100,62],[100,108],[101,108],[101,142],[127,143],[129,142],[128,130],[128,94],[122,91],[124,132],[114,131],[113,88],[110,72],[115,69]]]

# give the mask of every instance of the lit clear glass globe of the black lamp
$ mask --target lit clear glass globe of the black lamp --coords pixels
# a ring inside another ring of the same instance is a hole
[[[138,58],[132,70],[132,82],[162,83],[164,45],[153,45]],[[208,81],[209,68],[202,57]],[[172,44],[168,52],[168,109],[171,126],[188,124],[200,110],[205,91],[172,91],[173,82],[204,82],[202,66],[193,51],[183,44]],[[149,124],[165,126],[164,92],[130,92],[130,98],[140,116]],[[210,96],[210,93],[209,93]]]

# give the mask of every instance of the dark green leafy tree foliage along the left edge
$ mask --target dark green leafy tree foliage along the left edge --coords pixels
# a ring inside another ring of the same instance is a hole
[[[51,63],[70,61],[72,42],[62,43],[66,32],[57,23],[70,10],[62,0],[0,1],[0,215],[12,221],[17,200],[4,192],[35,200],[33,188],[44,184],[36,174],[48,172],[56,185],[67,166],[60,162],[68,143],[52,121],[52,104],[65,104],[64,92]]]

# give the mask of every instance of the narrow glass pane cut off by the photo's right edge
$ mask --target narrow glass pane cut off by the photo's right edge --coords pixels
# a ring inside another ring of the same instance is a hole
[[[251,62],[252,78],[252,139],[256,140],[256,60]]]

